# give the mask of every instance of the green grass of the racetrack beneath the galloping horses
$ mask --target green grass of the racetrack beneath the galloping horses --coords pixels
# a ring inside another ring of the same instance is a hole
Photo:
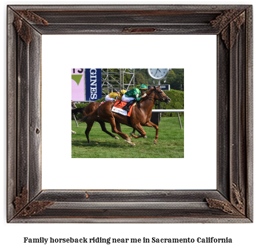
[[[147,138],[131,139],[135,146],[126,143],[118,136],[114,139],[102,132],[99,123],[94,123],[90,131],[91,143],[85,136],[86,123],[80,123],[79,127],[71,120],[71,130],[77,134],[71,134],[72,158],[184,158],[184,117],[181,117],[182,130],[177,117],[162,117],[159,123],[159,137],[154,144],[155,129],[143,127]],[[106,128],[111,132],[111,126],[106,123]],[[130,135],[132,128],[121,124],[122,132]],[[116,134],[115,134],[116,135]],[[135,132],[138,135],[138,132]]]

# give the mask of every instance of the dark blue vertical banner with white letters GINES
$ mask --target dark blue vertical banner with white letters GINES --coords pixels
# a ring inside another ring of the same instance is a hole
[[[85,69],[86,101],[94,102],[101,99],[101,68]]]

